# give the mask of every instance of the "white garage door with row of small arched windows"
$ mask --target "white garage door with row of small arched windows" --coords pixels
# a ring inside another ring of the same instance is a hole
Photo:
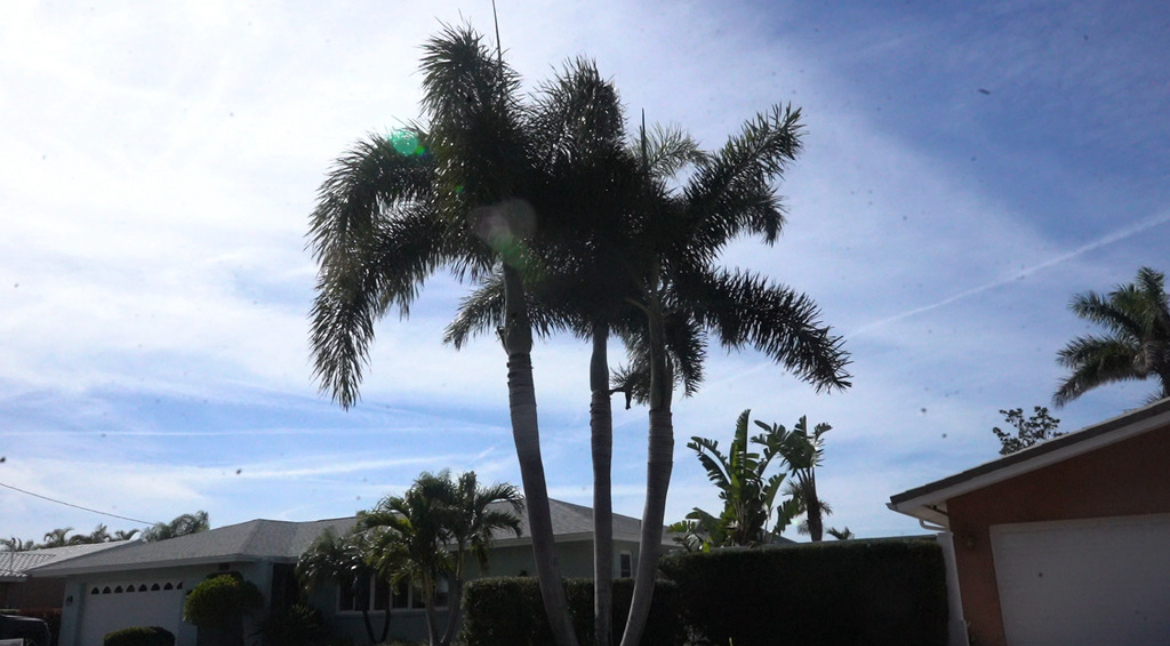
[[[78,646],[102,646],[105,633],[131,626],[163,626],[178,633],[183,602],[179,580],[90,583],[82,602]]]

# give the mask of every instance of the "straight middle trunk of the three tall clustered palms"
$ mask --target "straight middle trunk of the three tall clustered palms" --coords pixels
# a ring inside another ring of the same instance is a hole
[[[593,325],[590,359],[590,429],[593,448],[593,633],[594,646],[613,641],[613,411],[610,406],[610,327]]]

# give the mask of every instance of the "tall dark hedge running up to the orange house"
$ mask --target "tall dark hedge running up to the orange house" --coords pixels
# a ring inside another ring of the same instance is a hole
[[[934,540],[870,540],[662,559],[682,620],[716,646],[943,646],[947,583]]]

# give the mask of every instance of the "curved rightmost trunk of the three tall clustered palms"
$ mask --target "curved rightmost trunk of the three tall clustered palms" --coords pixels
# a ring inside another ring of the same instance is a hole
[[[634,595],[629,602],[629,617],[626,619],[626,631],[621,635],[621,646],[638,646],[641,642],[642,630],[651,613],[654,580],[658,578],[659,551],[662,544],[666,499],[670,488],[670,472],[674,469],[674,422],[670,418],[670,390],[674,387],[674,380],[667,366],[662,307],[656,294],[652,297],[647,314],[651,346],[651,414],[646,461],[646,507],[642,510]]]

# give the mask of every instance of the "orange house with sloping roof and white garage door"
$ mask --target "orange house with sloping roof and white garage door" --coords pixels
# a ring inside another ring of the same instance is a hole
[[[1170,644],[1170,399],[890,497],[979,646]]]

